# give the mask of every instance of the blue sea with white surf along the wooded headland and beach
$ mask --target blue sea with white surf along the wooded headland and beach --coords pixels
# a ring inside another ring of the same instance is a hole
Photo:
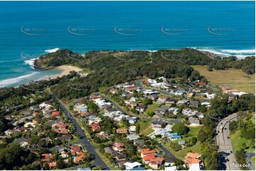
[[[0,1],[0,87],[60,73],[33,69],[57,49],[182,47],[255,55],[255,2]]]

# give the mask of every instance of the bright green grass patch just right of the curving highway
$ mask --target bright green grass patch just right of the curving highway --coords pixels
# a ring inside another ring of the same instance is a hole
[[[231,143],[233,146],[233,150],[234,151],[239,151],[243,148],[243,143],[245,143],[247,146],[249,146],[250,141],[248,141],[246,138],[241,137],[241,131],[236,131],[235,134],[232,134],[230,136],[231,138]],[[255,149],[254,148],[248,148],[245,151],[247,152],[254,152]]]

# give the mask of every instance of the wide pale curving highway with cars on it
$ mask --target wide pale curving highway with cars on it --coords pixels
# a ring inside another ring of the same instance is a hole
[[[233,147],[230,138],[228,138],[230,137],[229,122],[236,119],[237,113],[230,114],[228,117],[223,118],[216,126],[216,131],[220,131],[216,136],[216,144],[219,147],[218,153],[220,155],[221,170],[240,170],[239,167],[235,167],[235,164],[238,163],[236,163]]]

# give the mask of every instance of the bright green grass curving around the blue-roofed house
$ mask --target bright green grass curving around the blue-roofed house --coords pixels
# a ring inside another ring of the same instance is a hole
[[[186,138],[182,138],[182,139],[175,140],[175,141],[172,141],[172,142],[178,143],[178,141],[180,141],[180,140],[185,140],[186,141],[188,138],[191,138],[193,136],[197,137],[197,134],[199,133],[199,130],[201,129],[201,126],[189,127],[189,129],[190,129],[190,131],[187,134]],[[184,158],[187,155],[187,153],[189,153],[189,152],[200,153],[200,149],[201,149],[201,143],[199,141],[197,141],[194,146],[191,146],[189,148],[184,148],[181,151],[172,150],[172,148],[169,147],[169,143],[163,144],[163,146],[165,146],[165,148],[167,148],[170,152],[172,152],[178,158]]]

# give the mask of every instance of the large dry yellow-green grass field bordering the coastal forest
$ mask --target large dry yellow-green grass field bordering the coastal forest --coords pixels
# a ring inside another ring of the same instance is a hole
[[[247,75],[240,69],[207,71],[207,66],[194,65],[192,67],[213,84],[227,84],[233,89],[255,94],[255,74]]]

